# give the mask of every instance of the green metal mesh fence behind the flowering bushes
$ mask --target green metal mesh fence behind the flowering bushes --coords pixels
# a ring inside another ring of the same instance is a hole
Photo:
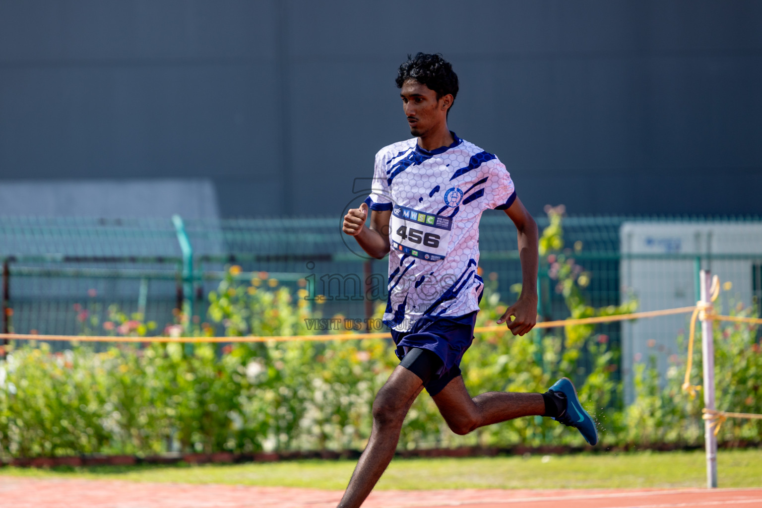
[[[669,244],[672,237],[666,236],[655,241],[657,251],[636,252],[623,248],[626,238],[620,230],[627,223],[654,227],[680,223],[715,228],[747,225],[752,229],[762,224],[757,218],[565,218],[566,248],[591,273],[586,288],[591,305],[617,305],[626,298],[626,286],[632,286],[632,280],[626,278],[631,278],[632,273],[623,270],[631,271],[633,266],[640,270],[641,278],[652,277],[656,286],[673,268],[692,272],[712,265],[725,271],[748,269],[748,274],[734,273],[732,277],[748,279],[750,289],[744,298],[750,304],[762,295],[762,249],[754,241],[745,248],[739,245],[735,253],[706,249],[694,252],[687,248],[676,251],[675,245]],[[547,219],[539,218],[538,225],[542,230]],[[514,226],[501,212],[485,213],[479,244],[485,279],[497,280],[501,296],[511,301],[514,296],[509,289],[520,283]],[[341,312],[347,317],[364,318],[372,308],[363,291],[339,282],[347,277],[364,281],[370,273],[386,276],[386,260],[368,260],[357,251],[352,239],[341,234],[338,218],[0,218],[5,308],[2,330],[79,334],[86,331],[85,308],[87,312],[104,313],[109,305],[117,305],[128,314],[139,312],[146,321],[155,321],[159,324],[156,333],[165,324],[174,323],[177,313],[183,310],[203,321],[207,294],[216,288],[229,264],[238,264],[244,272],[267,272],[281,284],[294,287],[297,280],[312,276],[315,291],[327,297],[322,308],[325,315]],[[667,264],[660,264],[660,260]],[[549,270],[550,264],[543,260],[539,312],[545,320],[565,318],[568,310],[555,291]],[[353,296],[360,298],[344,299],[347,295],[342,292],[347,287],[357,290]],[[688,289],[685,301],[695,302],[695,290]],[[608,331],[616,344],[621,327],[610,325]]]

